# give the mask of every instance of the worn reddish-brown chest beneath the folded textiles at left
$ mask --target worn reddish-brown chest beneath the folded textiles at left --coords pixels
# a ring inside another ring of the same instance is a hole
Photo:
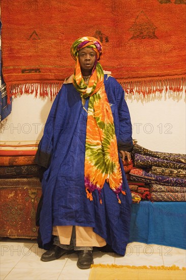
[[[38,178],[1,179],[1,237],[37,237],[36,211],[41,192]]]

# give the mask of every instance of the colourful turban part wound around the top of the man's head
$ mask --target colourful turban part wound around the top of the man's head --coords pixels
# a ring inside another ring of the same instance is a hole
[[[100,60],[103,46],[102,43],[97,38],[94,37],[81,37],[73,43],[71,47],[71,55],[73,59],[77,60],[78,51],[86,47],[94,49],[97,53],[97,60]]]

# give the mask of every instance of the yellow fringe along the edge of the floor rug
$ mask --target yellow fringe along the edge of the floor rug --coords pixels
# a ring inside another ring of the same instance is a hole
[[[157,270],[183,270],[185,271],[185,267],[179,268],[176,265],[172,266],[134,266],[134,265],[117,265],[117,264],[92,264],[92,267],[102,267],[102,268],[130,268],[130,269],[157,269]]]

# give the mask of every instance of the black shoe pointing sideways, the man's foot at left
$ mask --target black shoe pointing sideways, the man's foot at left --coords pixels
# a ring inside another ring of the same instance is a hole
[[[69,255],[73,253],[74,250],[65,250],[57,245],[52,245],[52,247],[43,253],[41,256],[41,261],[43,262],[50,262],[59,259],[63,255]]]

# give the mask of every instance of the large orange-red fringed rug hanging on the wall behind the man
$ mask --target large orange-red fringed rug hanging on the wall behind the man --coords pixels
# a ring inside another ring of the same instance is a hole
[[[82,11],[88,7],[83,17]],[[8,12],[7,12],[8,11]],[[48,20],[50,18],[50,21]],[[182,91],[185,1],[2,0],[3,73],[11,94],[56,94],[74,71],[70,47],[94,36],[126,92]]]

